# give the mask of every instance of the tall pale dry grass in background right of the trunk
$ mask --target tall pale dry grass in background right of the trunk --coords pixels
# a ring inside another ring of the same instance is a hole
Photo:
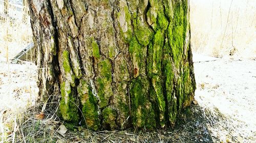
[[[215,57],[256,57],[254,0],[191,0],[190,8],[194,52]]]

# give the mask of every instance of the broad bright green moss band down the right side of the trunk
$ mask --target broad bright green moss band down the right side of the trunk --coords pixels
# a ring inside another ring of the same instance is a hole
[[[177,109],[181,109],[187,103],[186,101],[189,100],[190,102],[190,96],[187,96],[188,91],[190,91],[188,87],[191,87],[188,85],[190,83],[189,71],[183,70],[184,73],[180,71],[185,57],[184,43],[188,28],[187,6],[185,6],[186,2],[183,1],[174,4],[172,2],[163,0],[163,5],[158,3],[157,25],[156,28],[152,26],[156,33],[148,45],[147,56],[147,74],[153,85],[150,96],[152,101],[156,102],[159,112],[157,118],[159,118],[162,127],[167,122],[165,119],[174,124]],[[152,5],[151,1],[150,4]],[[151,10],[147,13],[147,19],[152,18],[152,13],[149,12]],[[150,22],[154,23],[154,19],[151,20]],[[150,22],[148,23],[150,24]],[[172,56],[173,58],[171,58]],[[173,67],[173,63],[175,67]],[[180,75],[177,75],[178,83],[174,94],[175,69]]]

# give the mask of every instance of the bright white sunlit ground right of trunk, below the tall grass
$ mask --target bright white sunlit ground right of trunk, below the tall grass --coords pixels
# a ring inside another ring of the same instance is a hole
[[[225,121],[211,127],[211,135],[224,142],[232,137],[236,142],[255,141],[256,61],[212,60],[216,61],[199,58],[194,64],[195,99],[200,106],[225,116]]]

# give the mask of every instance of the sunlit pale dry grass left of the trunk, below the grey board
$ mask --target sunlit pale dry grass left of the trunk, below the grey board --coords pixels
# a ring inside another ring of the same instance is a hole
[[[0,140],[10,141],[19,126],[17,121],[28,107],[35,105],[36,66],[1,61],[0,67],[5,67],[0,69]]]

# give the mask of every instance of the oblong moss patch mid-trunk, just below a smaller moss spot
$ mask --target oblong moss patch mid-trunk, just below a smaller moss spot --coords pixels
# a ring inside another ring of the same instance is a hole
[[[112,91],[112,65],[109,59],[98,63],[99,76],[96,78],[98,96],[100,99],[99,106],[103,108],[109,104],[109,98],[113,96]]]

